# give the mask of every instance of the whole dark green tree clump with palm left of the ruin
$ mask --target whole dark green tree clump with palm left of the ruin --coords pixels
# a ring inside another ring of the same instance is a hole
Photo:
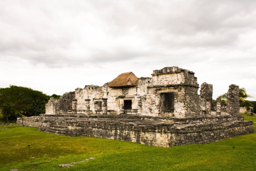
[[[7,88],[0,88],[0,110],[2,120],[6,123],[18,117],[36,116],[45,113],[45,104],[53,97],[60,98],[60,95],[48,96],[41,91],[28,87],[10,85]]]

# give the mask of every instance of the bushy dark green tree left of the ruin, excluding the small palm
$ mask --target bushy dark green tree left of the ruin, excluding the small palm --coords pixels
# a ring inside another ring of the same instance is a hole
[[[60,96],[53,94],[54,98]],[[48,96],[41,91],[27,87],[10,85],[7,88],[0,88],[0,108],[4,103],[10,102],[15,111],[25,116],[35,116],[45,113],[45,104],[52,96]]]

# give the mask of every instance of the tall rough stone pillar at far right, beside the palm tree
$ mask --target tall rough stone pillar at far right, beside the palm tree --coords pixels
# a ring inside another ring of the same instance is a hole
[[[227,115],[239,115],[239,86],[231,84],[228,89]]]

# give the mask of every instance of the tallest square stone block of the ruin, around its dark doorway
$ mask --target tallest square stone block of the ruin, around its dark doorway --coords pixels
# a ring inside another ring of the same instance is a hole
[[[164,116],[192,117],[199,115],[199,96],[197,94],[199,85],[195,73],[177,66],[165,67],[161,70],[154,70],[152,81],[148,86],[148,93],[144,104],[145,114],[161,113],[161,91],[176,90],[174,92],[174,112],[164,113]],[[143,106],[143,103],[142,103]]]

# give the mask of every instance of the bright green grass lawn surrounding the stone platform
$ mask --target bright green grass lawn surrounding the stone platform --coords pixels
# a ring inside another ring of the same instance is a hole
[[[256,121],[256,117],[245,117],[245,120]],[[164,148],[94,137],[61,136],[33,127],[4,128],[0,129],[1,171],[256,170],[255,133],[204,145]],[[76,167],[58,167],[90,157],[95,159],[77,163]]]

